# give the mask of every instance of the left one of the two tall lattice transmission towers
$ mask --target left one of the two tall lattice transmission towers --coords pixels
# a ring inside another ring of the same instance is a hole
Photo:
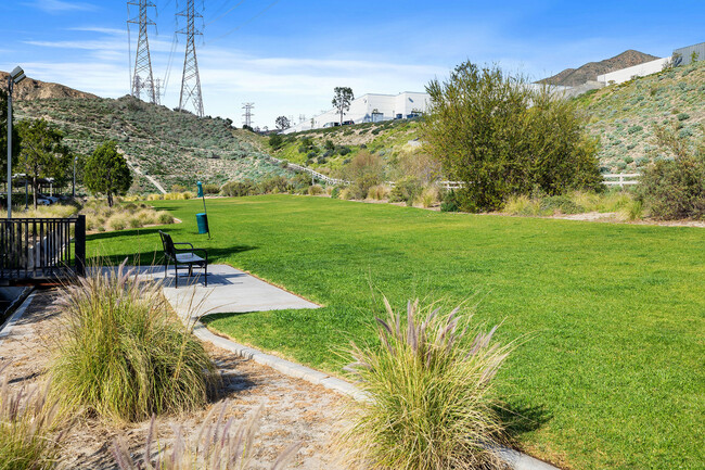
[[[130,5],[139,7],[140,11],[133,18],[129,17]],[[127,30],[129,41],[130,24],[139,25],[140,38],[137,41],[137,55],[134,56],[134,73],[132,74],[130,89],[132,96],[137,99],[142,99],[142,90],[146,91],[146,98],[152,103],[157,102],[156,92],[154,90],[154,76],[152,75],[152,58],[150,56],[150,41],[146,37],[148,26],[156,27],[156,24],[148,17],[148,9],[153,7],[156,13],[156,5],[148,0],[128,1],[127,2]]]

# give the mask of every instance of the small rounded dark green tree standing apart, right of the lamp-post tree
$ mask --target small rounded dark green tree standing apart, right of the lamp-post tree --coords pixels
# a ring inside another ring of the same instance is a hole
[[[103,143],[88,157],[84,182],[93,194],[107,195],[111,207],[114,194],[125,194],[130,189],[132,174],[125,157],[117,152],[115,141]]]

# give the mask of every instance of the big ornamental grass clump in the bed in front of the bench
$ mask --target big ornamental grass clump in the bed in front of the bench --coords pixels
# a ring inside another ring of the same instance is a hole
[[[161,287],[125,262],[117,274],[94,267],[66,285],[59,308],[52,394],[69,409],[137,421],[206,404],[215,366]]]

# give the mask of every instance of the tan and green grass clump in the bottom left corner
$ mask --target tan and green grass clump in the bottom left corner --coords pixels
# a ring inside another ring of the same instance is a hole
[[[46,389],[11,391],[8,378],[0,378],[0,470],[54,468],[63,436],[55,435],[55,424],[56,405]]]

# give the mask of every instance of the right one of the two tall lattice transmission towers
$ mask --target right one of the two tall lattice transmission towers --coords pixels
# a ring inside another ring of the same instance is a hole
[[[187,53],[183,59],[183,75],[181,76],[181,94],[179,96],[179,110],[183,110],[189,102],[195,109],[196,115],[203,117],[203,96],[201,94],[201,76],[198,75],[198,61],[196,59],[195,36],[202,35],[195,27],[195,20],[203,15],[196,12],[195,0],[187,0],[187,8],[177,13],[185,16],[187,27],[177,31],[187,37]]]

